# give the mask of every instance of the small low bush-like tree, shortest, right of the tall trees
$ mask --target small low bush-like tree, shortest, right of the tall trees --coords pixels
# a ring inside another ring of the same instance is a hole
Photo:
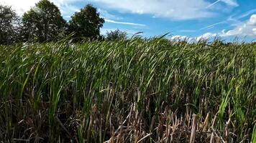
[[[106,39],[109,41],[115,41],[120,39],[127,39],[127,32],[116,29],[115,31],[107,31]]]

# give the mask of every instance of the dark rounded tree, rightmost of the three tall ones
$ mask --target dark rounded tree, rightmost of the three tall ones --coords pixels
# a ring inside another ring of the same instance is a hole
[[[97,39],[100,37],[100,28],[104,22],[104,19],[99,16],[97,9],[88,4],[81,11],[71,16],[68,32],[75,32],[74,36],[78,38]]]

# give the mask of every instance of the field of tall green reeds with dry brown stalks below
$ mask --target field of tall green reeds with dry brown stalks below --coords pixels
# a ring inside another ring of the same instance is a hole
[[[0,46],[0,142],[256,142],[256,44]]]

